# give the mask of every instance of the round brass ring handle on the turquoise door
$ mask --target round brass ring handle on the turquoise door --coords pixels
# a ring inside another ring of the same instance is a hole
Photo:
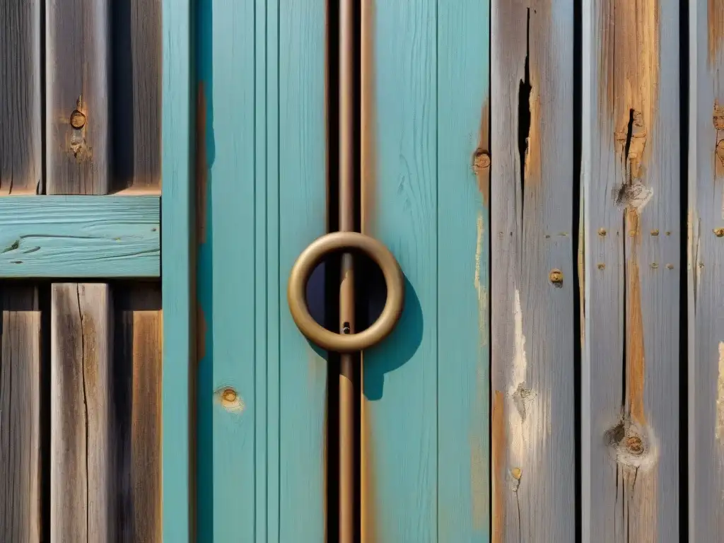
[[[314,267],[328,253],[356,249],[366,253],[382,269],[387,284],[387,301],[379,319],[358,334],[335,334],[317,323],[309,313],[306,285]],[[292,319],[308,340],[325,350],[353,353],[379,343],[392,332],[400,319],[405,300],[403,272],[390,250],[382,243],[359,232],[332,232],[314,240],[297,258],[289,276],[287,302]]]

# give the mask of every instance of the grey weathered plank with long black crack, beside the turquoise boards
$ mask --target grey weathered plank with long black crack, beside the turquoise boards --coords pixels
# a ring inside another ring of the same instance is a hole
[[[573,542],[573,2],[491,17],[494,541]]]

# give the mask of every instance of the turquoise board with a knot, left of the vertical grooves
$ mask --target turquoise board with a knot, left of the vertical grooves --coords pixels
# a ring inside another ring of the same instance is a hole
[[[264,223],[255,198],[254,8],[254,0],[198,2],[198,542],[252,542],[256,508],[264,510],[255,469],[256,416],[264,412],[255,376],[266,362],[257,324],[266,324],[256,303]]]

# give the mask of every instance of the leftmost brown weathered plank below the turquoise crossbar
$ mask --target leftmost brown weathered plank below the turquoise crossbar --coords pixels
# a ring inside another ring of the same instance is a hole
[[[33,286],[0,292],[0,540],[41,538],[41,311]]]

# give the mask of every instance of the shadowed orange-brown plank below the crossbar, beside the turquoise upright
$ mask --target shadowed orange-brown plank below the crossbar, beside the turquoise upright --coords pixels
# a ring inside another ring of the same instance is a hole
[[[116,541],[161,543],[161,285],[114,288]]]

